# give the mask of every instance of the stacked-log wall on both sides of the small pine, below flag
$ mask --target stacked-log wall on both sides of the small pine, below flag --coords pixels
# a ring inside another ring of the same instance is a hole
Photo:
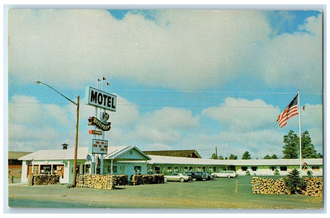
[[[322,197],[323,181],[322,178],[304,178],[307,184],[306,190],[302,193],[307,196]],[[285,187],[283,178],[258,178],[252,177],[251,181],[253,194],[268,194],[268,195],[290,195],[290,191]]]

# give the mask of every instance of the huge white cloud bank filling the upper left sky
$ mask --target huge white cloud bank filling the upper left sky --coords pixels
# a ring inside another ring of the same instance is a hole
[[[97,75],[185,90],[218,86],[270,32],[259,11],[158,11],[156,21],[168,25],[139,14],[118,21],[103,10],[8,14],[10,73],[21,82],[47,77],[57,87],[76,88]]]

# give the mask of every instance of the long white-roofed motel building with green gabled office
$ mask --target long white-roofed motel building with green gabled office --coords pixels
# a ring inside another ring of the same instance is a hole
[[[95,154],[94,160],[87,161],[88,154],[88,147],[78,148],[76,174],[99,174],[99,156]],[[60,175],[62,184],[73,182],[74,149],[39,150],[18,160],[22,161],[21,182],[27,182],[27,176],[32,174],[55,174]],[[315,176],[323,176],[323,159],[303,159],[303,162],[308,164]],[[247,171],[252,176],[274,176],[274,171],[278,169],[281,176],[286,176],[290,170],[300,167],[300,159],[214,160],[147,155],[135,146],[109,146],[103,163],[103,174],[125,174],[128,179],[134,174],[160,174],[164,171],[215,173],[235,170],[240,176],[246,175]],[[302,170],[303,176],[307,176],[307,171]]]

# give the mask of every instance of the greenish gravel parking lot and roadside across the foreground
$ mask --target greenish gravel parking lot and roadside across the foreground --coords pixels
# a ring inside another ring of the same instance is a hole
[[[8,198],[11,208],[322,208],[323,201],[319,197],[252,194],[250,182],[250,176],[240,176],[210,181],[116,186],[116,190],[67,188],[66,185],[11,185]]]

